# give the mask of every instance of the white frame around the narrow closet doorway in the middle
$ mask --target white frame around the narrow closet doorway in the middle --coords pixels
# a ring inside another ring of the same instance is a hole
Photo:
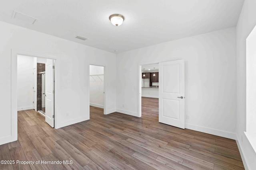
[[[87,108],[88,108],[88,113],[89,113],[89,117],[88,119],[90,119],[90,65],[93,66],[101,66],[104,67],[104,108],[103,108],[103,114],[106,115],[106,66],[105,65],[100,65],[100,64],[90,64],[88,63],[88,74],[87,74]]]

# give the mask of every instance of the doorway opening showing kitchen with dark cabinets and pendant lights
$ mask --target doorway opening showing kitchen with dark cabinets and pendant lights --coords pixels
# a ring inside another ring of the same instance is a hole
[[[141,65],[141,115],[158,121],[158,64]]]

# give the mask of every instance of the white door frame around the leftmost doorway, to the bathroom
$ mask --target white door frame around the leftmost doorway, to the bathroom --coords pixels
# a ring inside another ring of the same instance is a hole
[[[11,137],[10,141],[16,141],[18,140],[18,112],[17,112],[17,59],[18,55],[26,55],[30,57],[38,57],[38,58],[43,58],[43,59],[52,59],[55,62],[55,72],[54,76],[56,77],[56,72],[58,72],[58,67],[57,65],[57,57],[49,54],[40,54],[40,53],[35,53],[35,52],[30,52],[30,51],[22,51],[22,50],[16,50],[16,49],[11,49]],[[56,128],[57,124],[57,119],[58,119],[58,114],[56,112],[56,96],[57,95],[57,90],[56,90],[56,81],[55,78],[55,83],[54,83],[54,128]]]

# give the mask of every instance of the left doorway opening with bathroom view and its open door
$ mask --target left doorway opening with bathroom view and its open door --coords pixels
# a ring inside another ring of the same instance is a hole
[[[38,117],[54,127],[54,70],[53,59],[17,55],[17,110],[24,117],[29,115],[32,124]]]

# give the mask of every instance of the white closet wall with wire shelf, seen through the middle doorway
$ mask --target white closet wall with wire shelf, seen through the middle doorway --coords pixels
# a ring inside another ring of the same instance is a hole
[[[103,66],[90,65],[90,106],[104,108]]]

